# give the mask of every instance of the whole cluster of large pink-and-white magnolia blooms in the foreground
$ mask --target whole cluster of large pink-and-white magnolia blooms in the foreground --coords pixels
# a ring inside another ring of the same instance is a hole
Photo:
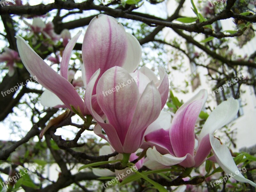
[[[201,90],[184,103],[171,123],[171,116],[162,111],[169,92],[169,80],[164,68],[158,69],[160,78],[149,68],[136,70],[141,60],[138,40],[126,33],[116,19],[104,14],[92,19],[84,36],[81,70],[86,90],[82,99],[68,75],[71,52],[80,35],[81,31],[67,43],[60,74],[47,65],[22,37],[16,38],[23,64],[47,89],[42,94],[42,103],[48,107],[67,107],[80,116],[92,115],[97,121],[94,133],[111,145],[103,150],[104,153],[100,151],[100,155],[115,150],[120,155],[129,154],[132,161],[141,148],[147,149],[147,157],[140,159],[138,167],[145,165],[149,169],[159,169],[175,164],[198,167],[209,159],[217,162],[227,174],[238,170],[228,148],[213,136],[215,130],[236,116],[239,108],[237,100],[230,98],[216,107],[199,136],[195,135],[195,125],[207,100],[206,90]],[[103,96],[102,92],[134,77],[138,80],[118,92]],[[213,156],[207,158],[211,151]],[[97,170],[94,172],[99,174]],[[242,174],[234,179],[256,186]]]

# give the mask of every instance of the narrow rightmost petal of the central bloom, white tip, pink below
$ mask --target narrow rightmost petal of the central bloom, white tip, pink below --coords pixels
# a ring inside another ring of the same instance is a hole
[[[160,85],[158,87],[158,91],[161,96],[162,109],[163,109],[164,105],[166,104],[166,101],[168,98],[168,93],[169,93],[169,78],[168,78],[168,75],[163,67],[159,67],[158,71],[159,71],[159,76],[160,76],[160,81],[159,81]]]

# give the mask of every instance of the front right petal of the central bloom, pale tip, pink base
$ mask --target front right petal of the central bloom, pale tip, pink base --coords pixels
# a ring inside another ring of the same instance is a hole
[[[151,81],[142,93],[132,122],[124,141],[124,151],[134,153],[143,142],[143,135],[151,123],[153,123],[161,112],[161,97]]]

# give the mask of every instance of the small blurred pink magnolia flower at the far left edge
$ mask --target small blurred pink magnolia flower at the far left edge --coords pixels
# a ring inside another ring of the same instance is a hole
[[[8,67],[9,76],[13,76],[14,67],[16,67],[15,62],[20,61],[19,53],[9,49],[8,47],[4,48],[4,52],[0,54],[0,62],[6,62],[6,67]]]

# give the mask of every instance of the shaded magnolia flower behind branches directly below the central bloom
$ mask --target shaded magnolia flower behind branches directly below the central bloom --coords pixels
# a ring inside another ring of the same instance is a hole
[[[100,148],[99,150],[99,155],[102,156],[102,155],[109,155],[111,153],[114,153],[115,152],[115,149],[113,149],[111,146],[109,145],[104,145]],[[136,153],[139,153],[141,152],[141,150],[139,149],[138,151],[136,151]],[[136,155],[136,153],[132,153],[130,158],[129,158],[129,162],[132,162],[133,160],[137,159],[138,156]],[[117,156],[114,156],[114,157],[110,157],[108,159],[108,161],[113,161],[113,160],[117,160],[117,159],[120,159],[122,160],[122,154],[118,154]],[[135,166],[138,169],[140,169],[142,166],[143,166],[143,162],[145,160],[145,157],[141,158],[137,163],[135,163]],[[124,180],[125,177],[127,177],[128,175],[131,175],[133,174],[134,172],[130,172],[130,174],[126,174],[127,170],[129,168],[125,168],[123,170],[115,170],[115,172],[112,172],[108,169],[97,169],[97,168],[93,168],[92,169],[92,172],[94,173],[94,175],[97,175],[97,176],[100,176],[100,177],[107,177],[107,176],[114,176],[116,175],[118,177],[118,175],[122,175],[122,178],[119,179],[119,182],[121,182],[122,180]],[[123,174],[124,173],[124,174]],[[123,176],[125,175],[125,176]]]

